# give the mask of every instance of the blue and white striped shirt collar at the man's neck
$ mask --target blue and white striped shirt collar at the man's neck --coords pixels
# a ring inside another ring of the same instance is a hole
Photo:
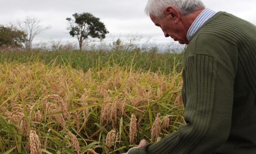
[[[192,25],[190,26],[190,29],[187,31],[187,40],[190,41],[192,36],[201,28],[201,26],[214,14],[216,14],[216,11],[213,11],[209,8],[204,9],[199,16],[194,20]]]

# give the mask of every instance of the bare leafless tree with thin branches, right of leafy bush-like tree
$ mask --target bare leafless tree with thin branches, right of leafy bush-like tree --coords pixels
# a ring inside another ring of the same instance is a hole
[[[27,16],[23,22],[17,20],[17,26],[26,34],[25,47],[28,50],[31,49],[32,41],[36,35],[51,28],[50,26],[42,26],[40,23],[41,21],[33,16]]]

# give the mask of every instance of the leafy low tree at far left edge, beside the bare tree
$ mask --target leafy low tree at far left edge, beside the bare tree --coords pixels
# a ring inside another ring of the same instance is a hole
[[[26,34],[14,25],[0,25],[0,46],[22,47],[25,40]]]

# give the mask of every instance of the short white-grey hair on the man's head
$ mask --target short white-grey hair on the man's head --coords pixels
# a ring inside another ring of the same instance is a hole
[[[183,15],[204,8],[204,4],[201,0],[148,0],[145,13],[148,16],[151,14],[155,17],[163,18],[164,10],[168,6],[175,7]]]

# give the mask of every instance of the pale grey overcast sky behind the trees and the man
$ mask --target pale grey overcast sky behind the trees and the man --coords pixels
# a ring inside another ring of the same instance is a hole
[[[206,7],[215,11],[226,11],[256,25],[256,0],[202,0]],[[52,28],[34,39],[76,41],[67,27],[66,17],[74,13],[90,12],[106,25],[107,40],[124,39],[128,35],[151,38],[156,44],[172,42],[165,38],[144,13],[147,0],[0,0],[0,24],[24,21],[26,16],[34,16],[42,25]]]

